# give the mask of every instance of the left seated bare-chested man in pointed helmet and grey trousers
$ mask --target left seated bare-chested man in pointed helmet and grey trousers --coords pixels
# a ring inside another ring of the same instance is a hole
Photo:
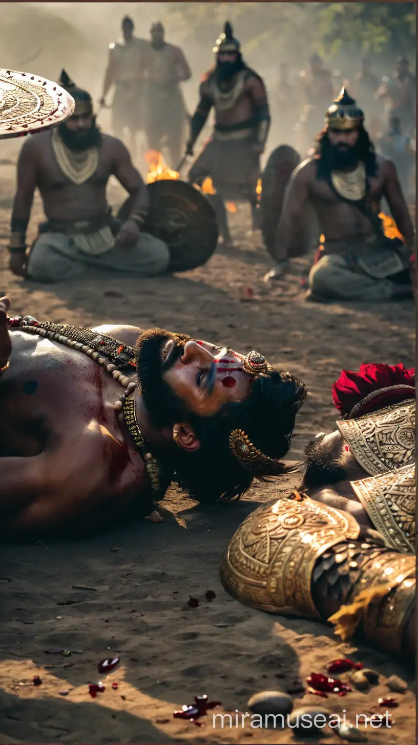
[[[90,95],[63,71],[63,86],[75,99],[75,112],[52,132],[26,140],[19,155],[13,202],[10,269],[40,282],[81,276],[88,267],[134,276],[164,272],[169,250],[141,232],[148,209],[143,180],[118,139],[96,127]],[[106,201],[111,175],[131,197],[131,215],[121,226]],[[29,253],[26,229],[35,188],[47,222]]]

